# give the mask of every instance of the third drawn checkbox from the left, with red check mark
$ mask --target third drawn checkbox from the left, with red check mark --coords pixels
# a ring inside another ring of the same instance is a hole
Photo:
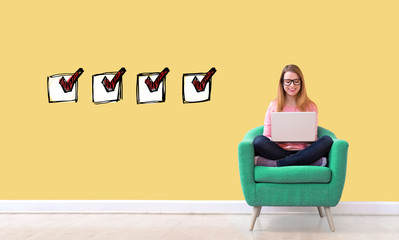
[[[137,103],[165,102],[166,75],[169,68],[162,72],[140,73],[137,75]]]

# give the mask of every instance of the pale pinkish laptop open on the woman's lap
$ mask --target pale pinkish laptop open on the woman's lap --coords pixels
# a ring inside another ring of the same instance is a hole
[[[315,112],[272,112],[273,142],[314,142],[316,136]]]

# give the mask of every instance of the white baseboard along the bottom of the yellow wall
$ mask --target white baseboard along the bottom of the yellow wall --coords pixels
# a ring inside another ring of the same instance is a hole
[[[340,202],[343,215],[399,215],[399,202]],[[249,214],[245,201],[0,200],[0,213],[189,213]],[[317,213],[315,207],[263,207],[262,213]]]

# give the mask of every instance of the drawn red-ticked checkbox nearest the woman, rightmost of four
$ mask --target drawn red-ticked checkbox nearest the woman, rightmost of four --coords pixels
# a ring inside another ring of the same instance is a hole
[[[183,103],[205,102],[211,99],[212,76],[216,69],[206,73],[183,74]]]

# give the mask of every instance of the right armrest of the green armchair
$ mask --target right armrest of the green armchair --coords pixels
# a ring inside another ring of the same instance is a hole
[[[340,139],[334,139],[331,146],[328,156],[329,168],[332,172],[329,184],[330,206],[336,206],[341,199],[346,178],[348,148],[348,142]]]

